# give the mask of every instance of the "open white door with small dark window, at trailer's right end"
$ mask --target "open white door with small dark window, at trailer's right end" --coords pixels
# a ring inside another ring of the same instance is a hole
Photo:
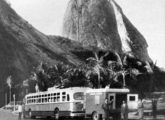
[[[127,103],[129,110],[138,109],[138,94],[127,94]]]

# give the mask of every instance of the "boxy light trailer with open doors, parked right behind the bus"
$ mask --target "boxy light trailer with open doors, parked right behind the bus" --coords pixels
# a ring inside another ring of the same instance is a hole
[[[102,108],[105,99],[108,101],[113,100],[112,108],[109,111],[109,118],[113,118],[113,120],[121,119],[123,101],[127,102],[129,110],[137,110],[138,107],[138,94],[130,94],[129,89],[89,89],[86,91],[85,97],[85,118],[102,119],[105,114]]]

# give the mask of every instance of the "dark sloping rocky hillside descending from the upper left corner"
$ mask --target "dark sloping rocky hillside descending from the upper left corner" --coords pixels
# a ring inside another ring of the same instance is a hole
[[[12,76],[13,84],[19,84],[41,61],[80,64],[81,60],[72,53],[77,50],[84,50],[80,43],[44,35],[0,0],[0,97],[4,98],[0,99],[0,106],[8,90],[8,76]]]

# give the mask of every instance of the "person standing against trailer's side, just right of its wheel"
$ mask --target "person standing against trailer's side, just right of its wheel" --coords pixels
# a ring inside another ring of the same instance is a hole
[[[109,104],[108,104],[108,99],[106,98],[102,108],[104,110],[104,116],[103,116],[103,120],[109,120]]]

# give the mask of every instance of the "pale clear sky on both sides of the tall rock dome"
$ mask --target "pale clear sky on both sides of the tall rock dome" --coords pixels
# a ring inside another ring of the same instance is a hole
[[[69,0],[7,0],[25,20],[45,34],[61,35]],[[148,43],[151,59],[165,68],[165,0],[116,0]]]

